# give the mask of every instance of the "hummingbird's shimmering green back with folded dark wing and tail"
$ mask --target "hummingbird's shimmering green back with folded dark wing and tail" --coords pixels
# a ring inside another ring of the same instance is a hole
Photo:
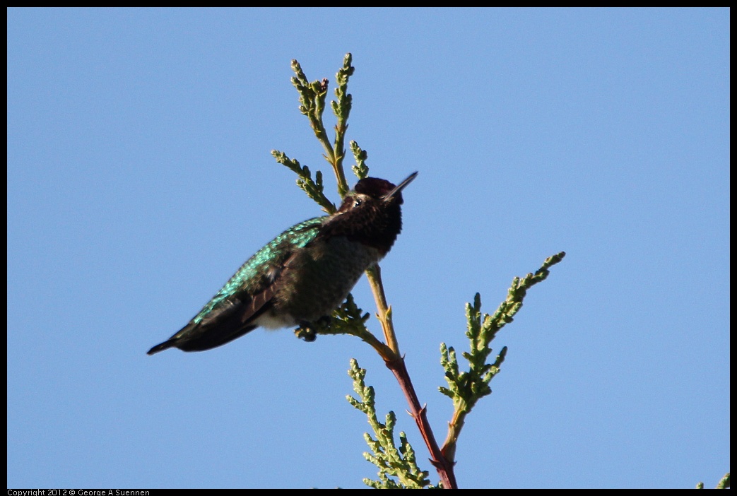
[[[322,218],[305,220],[279,234],[251,256],[186,326],[148,354],[172,347],[200,352],[256,329],[254,320],[272,307],[282,273],[296,251],[317,237]]]

